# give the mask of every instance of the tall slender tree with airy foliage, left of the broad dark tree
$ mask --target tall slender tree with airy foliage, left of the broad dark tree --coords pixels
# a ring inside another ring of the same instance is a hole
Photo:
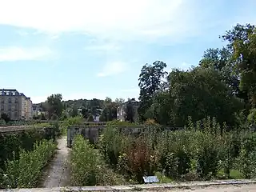
[[[161,88],[161,79],[166,76],[165,68],[166,63],[160,61],[154,62],[152,66],[148,64],[142,66],[141,74],[138,78],[138,86],[140,88],[138,116],[142,122],[146,120],[144,114],[146,114],[146,110],[150,109],[154,94]]]

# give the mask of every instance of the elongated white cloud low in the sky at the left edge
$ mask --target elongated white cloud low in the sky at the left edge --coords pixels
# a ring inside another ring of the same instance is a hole
[[[0,62],[20,60],[40,60],[48,58],[51,51],[47,47],[23,48],[18,46],[0,47]]]

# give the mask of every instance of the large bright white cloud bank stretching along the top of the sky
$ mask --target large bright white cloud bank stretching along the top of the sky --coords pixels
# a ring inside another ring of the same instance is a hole
[[[198,5],[190,0],[9,0],[0,24],[50,34],[82,32],[97,38],[154,40],[184,38],[202,31]],[[197,19],[196,19],[197,18]],[[199,28],[198,28],[199,26]]]

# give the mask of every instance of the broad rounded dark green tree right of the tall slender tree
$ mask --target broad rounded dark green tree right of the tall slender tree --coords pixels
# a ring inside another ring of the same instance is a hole
[[[181,126],[189,116],[194,121],[215,117],[218,122],[232,125],[234,113],[243,108],[218,71],[202,67],[170,73],[170,101],[173,102],[170,113],[176,118],[173,121]]]

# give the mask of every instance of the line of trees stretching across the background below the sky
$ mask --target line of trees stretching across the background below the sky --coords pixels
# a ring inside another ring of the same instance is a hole
[[[234,26],[219,37],[226,46],[206,50],[198,66],[189,70],[167,72],[162,61],[142,66],[138,78],[138,121],[150,119],[161,125],[184,126],[188,118],[196,122],[214,117],[228,126],[240,126],[241,122],[255,124],[255,33],[254,25]],[[74,117],[80,108],[83,118],[92,120],[92,116],[100,115],[100,121],[106,122],[117,118],[118,107],[124,103],[122,98],[63,102],[61,94],[53,94],[42,106],[49,112],[49,118]],[[134,122],[130,100],[125,110],[126,120]]]

